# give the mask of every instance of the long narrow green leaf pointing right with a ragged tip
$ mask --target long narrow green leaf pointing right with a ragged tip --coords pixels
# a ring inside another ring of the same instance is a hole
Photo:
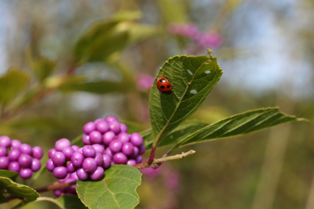
[[[270,128],[281,123],[300,120],[306,119],[286,115],[280,112],[278,107],[250,110],[225,118],[192,133],[191,135],[181,139],[171,150],[189,144],[235,137],[265,128]]]

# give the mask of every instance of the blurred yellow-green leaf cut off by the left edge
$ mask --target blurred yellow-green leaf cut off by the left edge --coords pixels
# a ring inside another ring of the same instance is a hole
[[[0,78],[0,103],[7,103],[30,82],[30,76],[16,68],[11,68]]]

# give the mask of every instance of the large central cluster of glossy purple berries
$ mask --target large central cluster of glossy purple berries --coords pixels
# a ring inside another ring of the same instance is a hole
[[[99,180],[110,165],[142,162],[143,138],[139,133],[127,134],[127,126],[116,117],[86,123],[83,130],[84,147],[71,146],[68,139],[62,138],[49,150],[46,167],[57,179],[76,172],[80,180]]]

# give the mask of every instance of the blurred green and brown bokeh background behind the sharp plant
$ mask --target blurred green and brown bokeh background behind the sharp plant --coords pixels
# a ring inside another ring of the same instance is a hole
[[[224,74],[192,118],[279,106],[310,122],[178,150],[196,154],[144,172],[136,208],[314,208],[313,14],[311,0],[2,0],[0,76],[16,88],[0,80],[0,135],[47,152],[108,115],[144,130],[163,63],[211,48]]]

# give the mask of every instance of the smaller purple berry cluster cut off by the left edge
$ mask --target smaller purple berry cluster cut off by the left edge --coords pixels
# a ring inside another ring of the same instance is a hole
[[[42,156],[39,146],[32,148],[17,139],[0,136],[0,169],[19,172],[21,178],[28,179],[41,168]]]

